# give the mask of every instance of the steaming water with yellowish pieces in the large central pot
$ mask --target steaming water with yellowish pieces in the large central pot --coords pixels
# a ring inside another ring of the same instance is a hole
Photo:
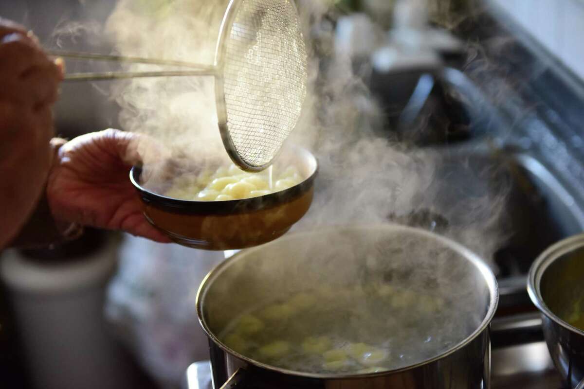
[[[479,321],[453,317],[444,297],[406,288],[322,287],[273,301],[238,317],[220,335],[232,350],[307,373],[371,373],[440,355]]]

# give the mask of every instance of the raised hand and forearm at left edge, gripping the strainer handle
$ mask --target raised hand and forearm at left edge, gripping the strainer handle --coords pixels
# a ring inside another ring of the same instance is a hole
[[[62,71],[32,34],[0,18],[0,247],[18,233],[43,190]]]

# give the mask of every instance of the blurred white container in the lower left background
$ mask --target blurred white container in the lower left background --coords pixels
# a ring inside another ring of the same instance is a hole
[[[107,330],[106,284],[119,240],[55,264],[4,253],[5,282],[22,334],[31,381],[39,389],[127,389],[133,365]]]

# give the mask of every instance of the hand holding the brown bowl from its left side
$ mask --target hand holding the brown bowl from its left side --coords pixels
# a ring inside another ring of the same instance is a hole
[[[141,200],[130,183],[133,164],[158,153],[150,138],[116,129],[78,136],[65,143],[47,183],[55,219],[168,243],[144,218]]]

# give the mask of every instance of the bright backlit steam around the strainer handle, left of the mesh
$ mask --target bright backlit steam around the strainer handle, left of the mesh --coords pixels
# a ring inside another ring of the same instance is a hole
[[[227,1],[121,0],[106,31],[122,55],[213,65],[217,31]],[[129,65],[128,71],[173,69]],[[218,137],[214,79],[143,78],[120,82],[113,96],[127,131],[154,136],[175,155],[207,160],[223,151]],[[148,161],[145,161],[148,164]]]

